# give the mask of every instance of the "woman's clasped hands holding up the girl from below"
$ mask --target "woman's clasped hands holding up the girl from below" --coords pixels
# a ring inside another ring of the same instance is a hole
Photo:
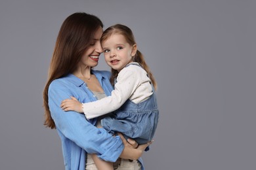
[[[138,160],[147,146],[152,144],[153,141],[150,141],[146,144],[137,144],[135,141],[133,142],[132,139],[128,139],[129,143],[123,137],[121,133],[118,133],[119,137],[122,139],[125,148],[123,152],[121,152],[120,158],[127,159],[127,160]],[[131,143],[133,144],[131,144]],[[137,145],[137,147],[135,147]]]

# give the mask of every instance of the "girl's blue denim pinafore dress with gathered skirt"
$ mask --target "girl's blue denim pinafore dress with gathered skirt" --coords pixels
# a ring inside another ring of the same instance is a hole
[[[158,126],[159,118],[153,86],[152,90],[152,95],[140,103],[134,103],[128,99],[113,114],[101,120],[102,127],[112,134],[117,131],[121,132],[126,139],[129,137],[139,144],[151,141]]]

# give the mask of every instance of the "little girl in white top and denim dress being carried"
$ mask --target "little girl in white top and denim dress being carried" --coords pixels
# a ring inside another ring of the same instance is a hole
[[[90,103],[79,103],[71,97],[62,101],[61,107],[65,111],[83,112],[87,119],[107,114],[100,121],[104,129],[112,134],[121,132],[139,144],[147,143],[152,140],[158,125],[156,80],[137,50],[129,27],[121,24],[108,27],[102,34],[101,43],[106,63],[112,67],[110,82],[114,90],[111,95]],[[95,95],[100,97],[98,93]],[[93,160],[98,169],[106,169],[106,165],[97,163],[103,160]],[[108,167],[113,169],[113,166]]]

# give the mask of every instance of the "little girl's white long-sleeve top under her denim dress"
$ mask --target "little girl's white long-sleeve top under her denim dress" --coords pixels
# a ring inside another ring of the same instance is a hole
[[[117,82],[111,95],[103,99],[83,103],[83,112],[87,119],[96,118],[119,109],[127,99],[140,103],[152,95],[150,78],[142,67],[129,64],[117,76]]]

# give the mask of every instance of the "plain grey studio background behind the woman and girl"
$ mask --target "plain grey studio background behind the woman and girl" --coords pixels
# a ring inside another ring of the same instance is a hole
[[[156,76],[160,122],[146,169],[256,168],[256,1],[0,2],[0,169],[64,169],[42,92],[74,12],[133,29]],[[109,69],[100,59],[96,69]]]

